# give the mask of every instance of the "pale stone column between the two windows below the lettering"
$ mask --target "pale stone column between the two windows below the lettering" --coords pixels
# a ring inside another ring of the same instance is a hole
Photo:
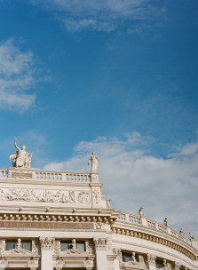
[[[55,238],[40,237],[41,243],[41,270],[53,270],[52,255]]]

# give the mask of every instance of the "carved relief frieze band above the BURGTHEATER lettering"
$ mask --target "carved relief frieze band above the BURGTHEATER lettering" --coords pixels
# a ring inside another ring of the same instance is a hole
[[[90,193],[86,191],[49,191],[12,188],[0,189],[1,201],[30,201],[42,203],[90,203]]]

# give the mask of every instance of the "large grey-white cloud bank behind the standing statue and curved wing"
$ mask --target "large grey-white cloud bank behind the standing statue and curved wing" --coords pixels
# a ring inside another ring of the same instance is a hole
[[[149,155],[148,147],[149,141],[139,133],[128,134],[125,139],[81,141],[72,158],[46,164],[44,170],[87,171],[87,160],[95,151],[99,156],[99,179],[115,209],[137,213],[143,206],[148,218],[162,222],[167,217],[173,228],[183,227],[186,233],[192,230],[195,234],[198,144],[180,147],[167,158]]]

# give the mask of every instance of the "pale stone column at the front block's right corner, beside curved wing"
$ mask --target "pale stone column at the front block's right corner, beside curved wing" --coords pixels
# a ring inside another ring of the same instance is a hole
[[[107,239],[93,239],[96,250],[96,270],[107,270]]]

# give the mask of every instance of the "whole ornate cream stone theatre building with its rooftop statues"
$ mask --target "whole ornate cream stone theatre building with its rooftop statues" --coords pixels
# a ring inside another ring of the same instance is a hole
[[[90,173],[36,171],[26,147],[17,149],[13,167],[0,171],[0,270],[198,269],[192,234],[186,239],[142,208],[111,208],[94,153]]]

